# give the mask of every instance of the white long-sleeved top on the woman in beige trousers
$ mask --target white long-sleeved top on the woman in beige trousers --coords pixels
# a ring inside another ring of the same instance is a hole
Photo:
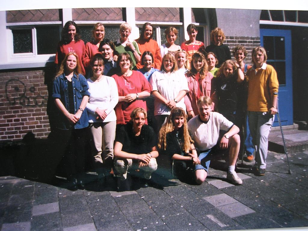
[[[91,79],[87,79],[87,83],[90,92],[87,103],[89,123],[116,121],[114,107],[119,101],[119,94],[115,79],[103,75],[99,82],[93,82]],[[107,109],[105,111],[107,114],[105,120],[96,119],[97,115],[95,115],[95,110],[97,107],[99,109]]]

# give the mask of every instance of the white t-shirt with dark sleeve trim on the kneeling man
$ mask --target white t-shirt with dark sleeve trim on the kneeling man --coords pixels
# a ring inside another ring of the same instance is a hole
[[[228,131],[233,126],[231,121],[218,112],[211,112],[207,123],[203,122],[199,115],[196,115],[187,124],[188,131],[195,141],[194,145],[200,151],[213,148],[217,144],[219,131]]]

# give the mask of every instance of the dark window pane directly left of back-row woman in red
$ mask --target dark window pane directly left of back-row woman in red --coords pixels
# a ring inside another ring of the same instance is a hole
[[[59,26],[37,26],[36,40],[38,55],[54,54],[60,40]]]

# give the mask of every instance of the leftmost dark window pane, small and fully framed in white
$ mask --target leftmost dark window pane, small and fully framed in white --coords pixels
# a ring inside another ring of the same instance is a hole
[[[14,54],[32,53],[32,29],[12,30]]]

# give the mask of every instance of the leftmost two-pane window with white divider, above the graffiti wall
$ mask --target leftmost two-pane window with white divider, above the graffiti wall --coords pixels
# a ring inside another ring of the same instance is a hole
[[[55,54],[60,40],[58,25],[12,26],[13,56]]]

